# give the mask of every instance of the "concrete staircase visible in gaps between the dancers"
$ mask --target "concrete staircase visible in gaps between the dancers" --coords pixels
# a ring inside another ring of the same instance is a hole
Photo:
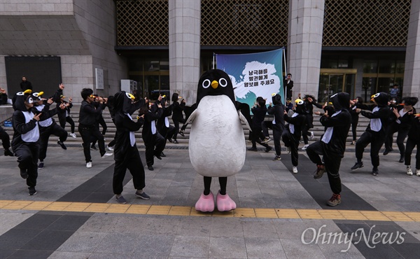
[[[71,116],[71,118],[73,118],[74,123],[76,124],[75,133],[77,135],[77,138],[76,139],[73,139],[72,137],[68,137],[67,140],[66,140],[66,142],[65,142],[66,146],[68,146],[68,147],[80,147],[80,144],[82,144],[82,142],[83,142],[82,141],[82,138],[80,137],[80,134],[78,133],[78,114],[79,114],[79,109],[80,109],[80,105],[78,105],[78,104],[74,104],[73,108],[71,109],[70,116]],[[321,110],[320,109],[316,109],[314,107],[314,111],[321,111]],[[113,139],[113,137],[115,136],[116,127],[115,127],[115,125],[113,124],[113,122],[111,120],[111,116],[109,114],[109,110],[108,109],[106,109],[104,111],[103,116],[104,116],[104,120],[106,122],[106,125],[108,126],[108,130],[106,131],[106,134],[104,135],[104,137],[106,139],[105,142],[106,142],[106,144],[108,144]],[[54,116],[54,119],[58,123],[57,116]],[[272,116],[266,116],[266,120],[272,120]],[[169,122],[173,125],[173,123],[172,123],[171,120]],[[358,127],[357,127],[357,137],[360,137],[360,135],[363,134],[363,132],[365,132],[365,129],[366,129],[368,123],[369,123],[369,120],[367,118],[365,118],[363,116],[360,116],[359,117],[359,123],[358,123]],[[3,123],[1,123],[1,126],[3,127]],[[245,133],[245,136],[246,136],[246,139],[247,139],[248,138],[248,134],[249,134],[249,130],[246,128],[245,125],[243,125],[243,126],[244,126],[244,133]],[[13,127],[3,127],[3,129],[6,130],[6,132],[8,132],[8,134],[10,136],[10,141],[11,141],[11,139],[13,137]],[[102,131],[102,127],[99,126],[99,129],[100,129],[100,131]],[[69,123],[66,123],[66,130],[69,133],[71,132]],[[314,137],[314,139],[312,139],[311,141],[309,141],[309,144],[311,144],[312,142],[314,142],[316,140],[319,140],[320,137],[321,137],[321,134],[323,134],[323,132],[324,132],[324,127],[319,122],[319,116],[314,115],[314,128],[311,129],[311,131],[314,132],[314,136],[315,137]],[[176,148],[185,149],[185,148],[188,148],[188,139],[189,139],[189,135],[190,135],[190,125],[187,126],[186,131],[184,132],[184,134],[185,134],[185,137],[182,137],[180,134],[178,134],[178,139],[177,140],[179,141],[179,144],[172,144],[169,141],[167,141],[166,148],[172,148],[172,149],[176,149]],[[273,138],[272,137],[272,131],[271,130],[269,130],[269,134],[270,134],[270,137]],[[136,132],[135,135],[136,135],[136,143],[137,143],[137,146],[139,148],[144,148],[144,142],[141,139],[141,129],[138,132]],[[396,147],[396,144],[395,144],[396,135],[397,134],[394,134],[394,144],[393,144],[393,147],[394,147],[394,150],[395,151],[398,151],[398,148]],[[52,135],[50,137],[49,144],[51,146],[57,146],[57,140],[58,140],[58,137],[55,137],[54,135]],[[350,129],[349,137],[347,137],[347,145],[346,145],[346,148],[353,150],[354,149],[354,146],[351,146],[350,145],[351,144],[351,141],[352,141],[352,134],[351,134],[351,129]],[[270,146],[273,146],[274,147],[274,144],[273,144],[272,141],[269,141],[268,144]],[[248,141],[247,141],[246,145],[247,146],[251,146],[251,144],[249,144]],[[302,148],[303,145],[304,145],[303,143],[300,144],[300,148]],[[281,143],[281,146],[283,147],[283,143]],[[263,148],[260,145],[257,145],[257,147],[260,148],[261,150]],[[81,149],[81,147],[80,147],[80,149]]]

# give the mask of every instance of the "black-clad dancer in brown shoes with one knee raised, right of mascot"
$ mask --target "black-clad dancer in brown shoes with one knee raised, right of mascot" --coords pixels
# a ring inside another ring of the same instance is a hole
[[[321,140],[314,142],[307,148],[309,159],[316,164],[314,179],[320,179],[326,171],[328,181],[332,190],[332,197],[328,200],[328,206],[337,206],[341,203],[341,179],[339,178],[339,166],[344,151],[346,150],[346,139],[351,126],[351,114],[349,112],[350,94],[339,92],[330,97],[334,112],[325,111],[320,119],[321,124],[326,128]],[[320,155],[323,155],[323,164]]]

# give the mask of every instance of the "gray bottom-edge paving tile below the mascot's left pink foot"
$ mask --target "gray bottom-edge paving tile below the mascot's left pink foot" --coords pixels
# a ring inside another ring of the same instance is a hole
[[[207,257],[210,237],[176,236],[169,256]]]

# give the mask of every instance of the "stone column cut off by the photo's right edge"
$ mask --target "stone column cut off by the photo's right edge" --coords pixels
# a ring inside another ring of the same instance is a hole
[[[409,14],[403,96],[420,96],[420,1],[412,1]],[[417,103],[416,107],[420,107]]]

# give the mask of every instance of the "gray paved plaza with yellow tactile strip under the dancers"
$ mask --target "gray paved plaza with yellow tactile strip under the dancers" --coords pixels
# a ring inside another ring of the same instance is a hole
[[[302,146],[302,144],[301,144]],[[167,146],[166,158],[146,169],[151,200],[134,196],[127,172],[118,204],[112,192],[113,157],[92,151],[85,167],[76,144],[49,146],[38,170],[38,193],[29,196],[16,158],[0,156],[0,258],[418,258],[420,177],[407,176],[398,153],[381,155],[379,176],[355,162],[349,146],[341,165],[342,204],[326,176],[300,151],[299,172],[290,155],[247,151],[239,174],[228,178],[237,209],[204,214],[194,205],[202,176],[185,145]],[[139,145],[142,161],[144,146]],[[412,165],[414,165],[414,158]],[[218,180],[211,185],[218,191]]]

